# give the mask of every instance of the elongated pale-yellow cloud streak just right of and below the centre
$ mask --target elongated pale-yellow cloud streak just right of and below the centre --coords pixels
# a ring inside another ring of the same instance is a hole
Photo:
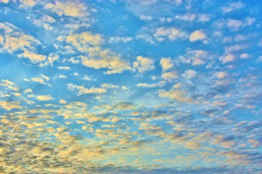
[[[181,90],[170,90],[170,91],[159,91],[159,97],[170,98],[171,100],[177,100],[178,102],[192,102],[192,98],[185,96],[185,91]]]

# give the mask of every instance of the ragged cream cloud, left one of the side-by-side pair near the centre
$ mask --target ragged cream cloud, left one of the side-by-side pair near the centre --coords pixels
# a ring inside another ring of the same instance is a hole
[[[133,69],[137,69],[139,73],[153,70],[154,61],[147,57],[137,56],[137,61],[133,62]]]

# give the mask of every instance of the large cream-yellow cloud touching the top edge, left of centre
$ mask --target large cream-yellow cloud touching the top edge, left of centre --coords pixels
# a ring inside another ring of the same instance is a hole
[[[59,16],[66,15],[70,17],[85,17],[88,15],[85,4],[77,1],[55,1],[54,3],[47,3],[45,8],[52,10],[52,12],[57,13]]]

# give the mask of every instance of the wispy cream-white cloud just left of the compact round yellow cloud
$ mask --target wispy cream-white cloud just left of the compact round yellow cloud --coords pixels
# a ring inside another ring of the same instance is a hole
[[[157,28],[157,31],[154,33],[154,37],[158,41],[163,41],[165,39],[169,39],[170,41],[174,41],[178,38],[185,38],[187,34],[185,32],[181,32],[177,28]]]

